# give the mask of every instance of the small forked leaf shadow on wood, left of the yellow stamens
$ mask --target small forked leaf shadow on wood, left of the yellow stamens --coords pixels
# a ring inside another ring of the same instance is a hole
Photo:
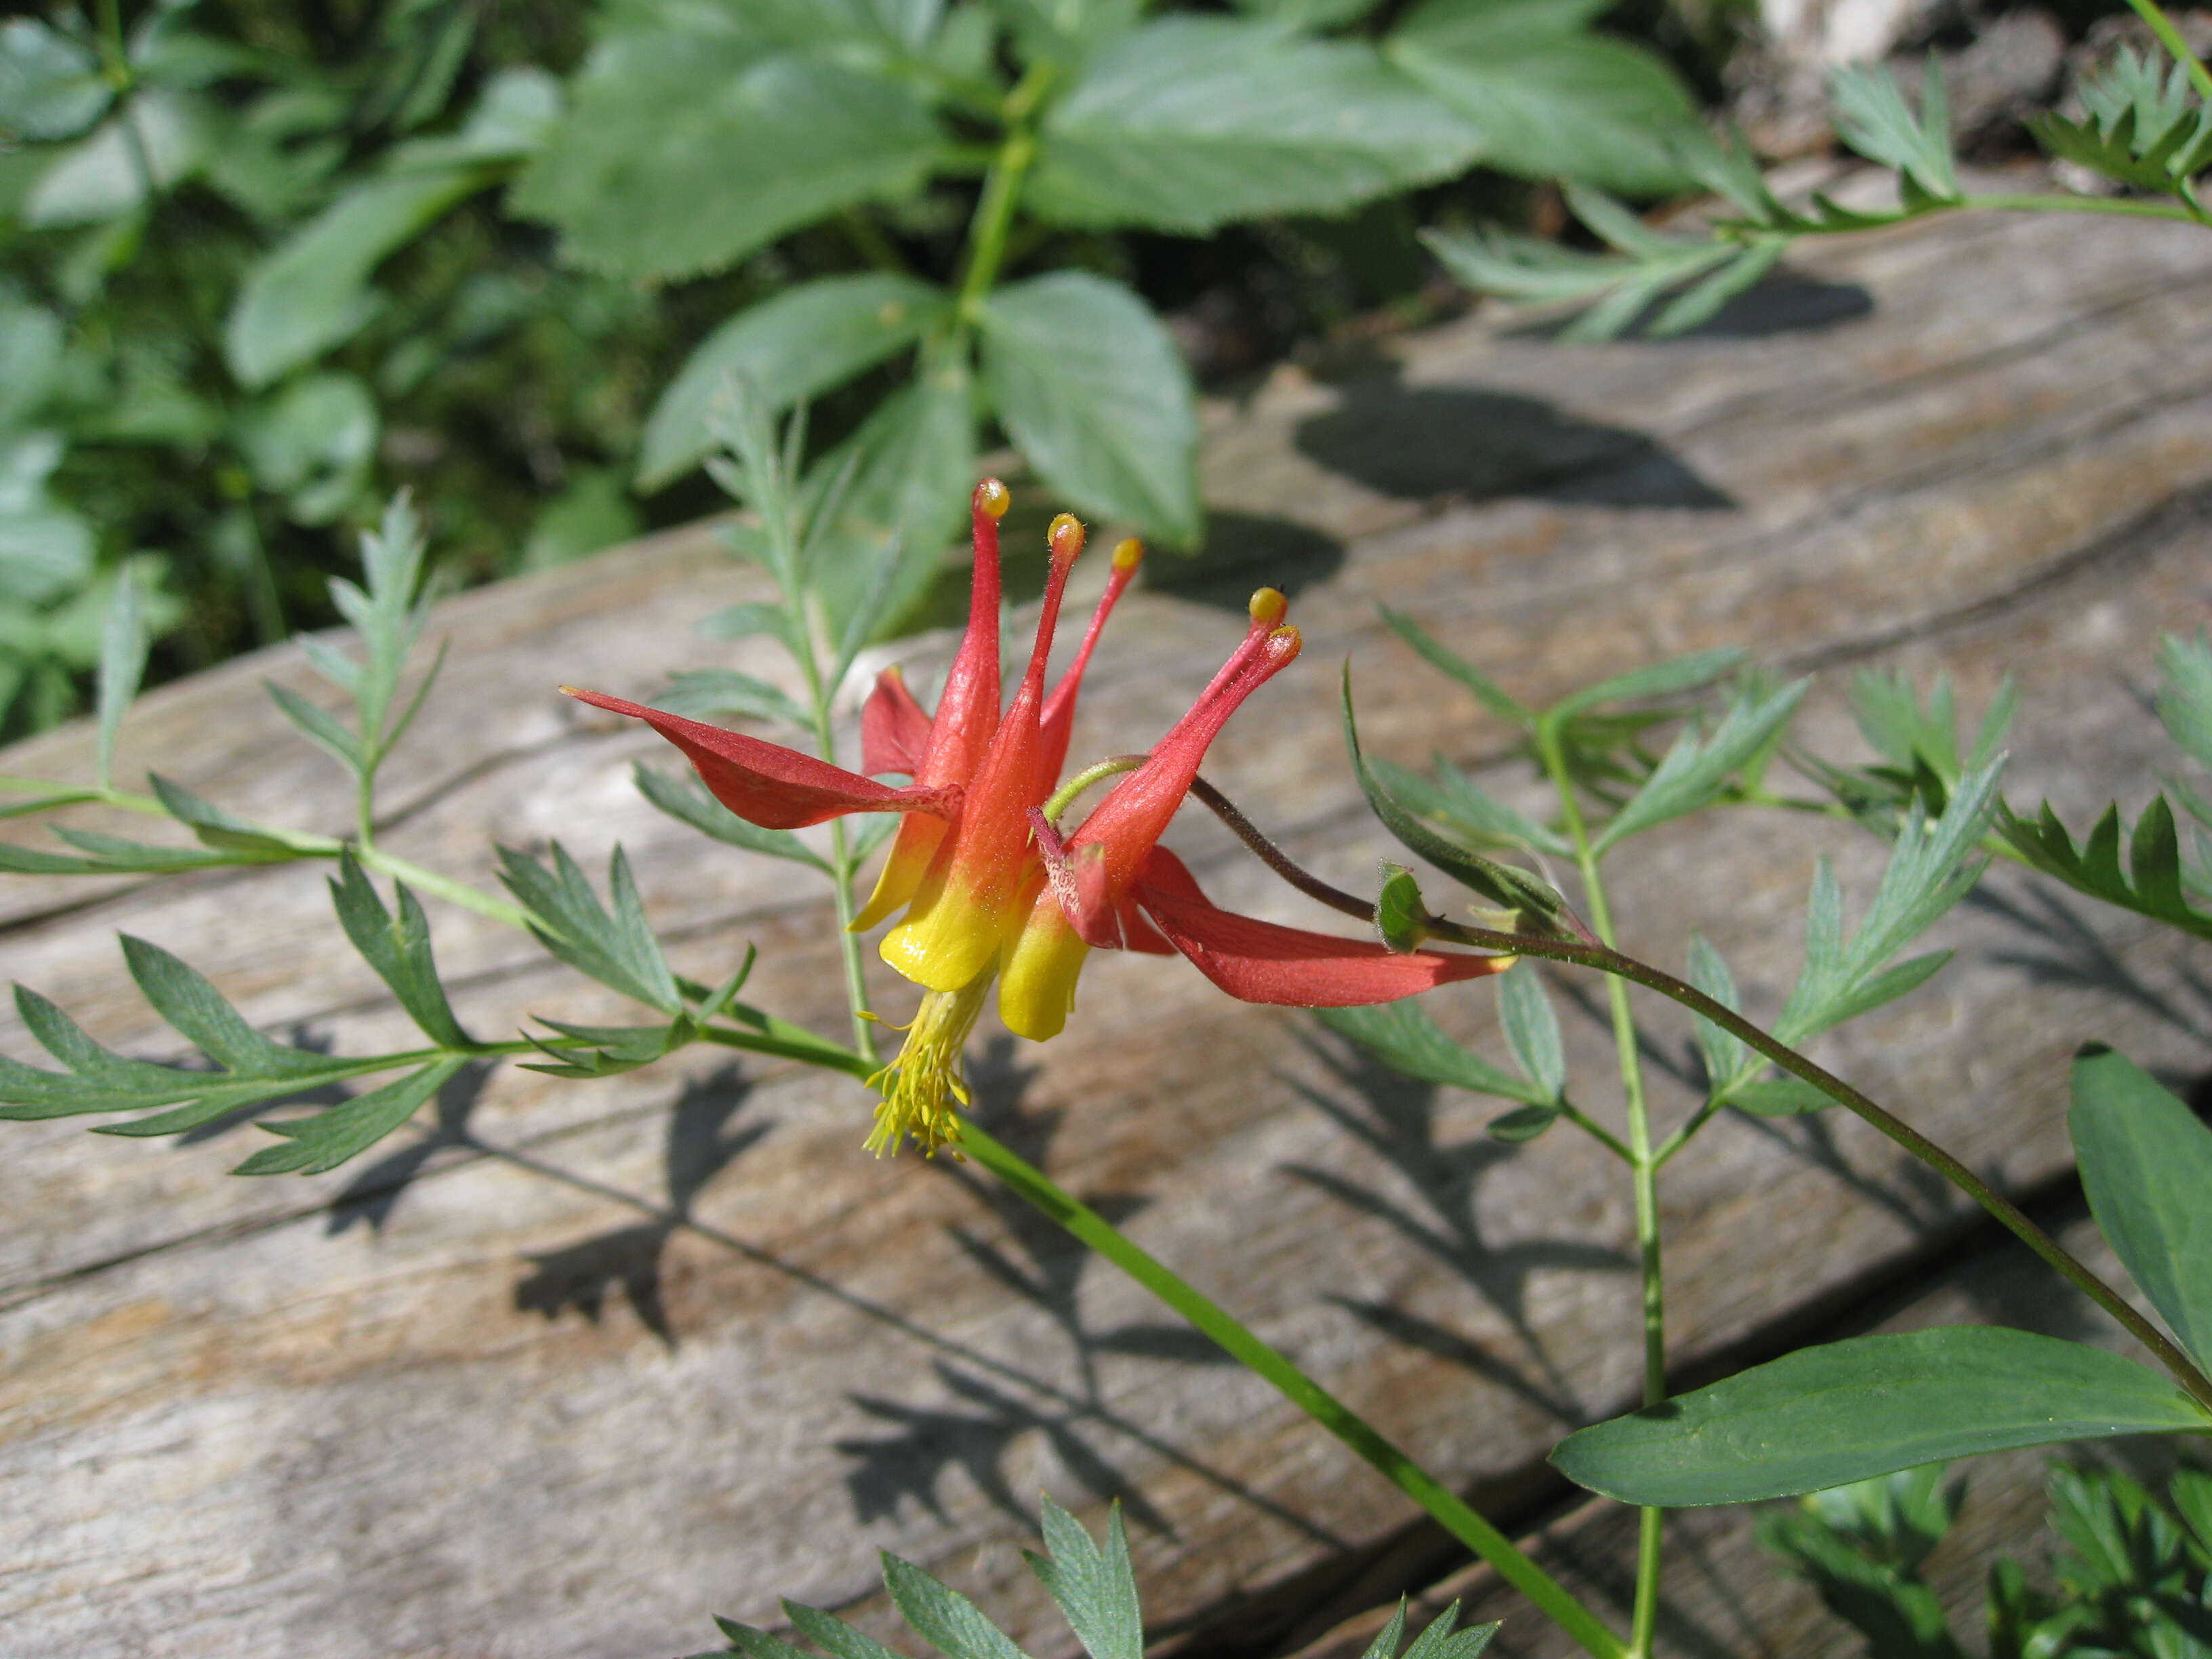
[[[661,1256],[668,1241],[690,1225],[706,1183],[774,1128],[770,1121],[728,1133],[750,1093],[752,1084],[737,1066],[686,1084],[668,1113],[668,1208],[650,1221],[531,1254],[533,1272],[515,1285],[515,1310],[544,1314],[549,1321],[575,1310],[597,1325],[608,1298],[619,1292],[646,1329],[675,1349],[677,1334],[661,1296]]]

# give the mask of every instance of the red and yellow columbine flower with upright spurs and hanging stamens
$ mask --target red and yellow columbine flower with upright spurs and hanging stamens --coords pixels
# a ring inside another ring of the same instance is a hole
[[[867,1137],[874,1152],[896,1150],[907,1135],[925,1152],[958,1144],[958,1108],[969,1102],[960,1053],[993,982],[1009,1031],[1053,1037],[1075,1006],[1075,980],[1093,949],[1179,953],[1234,998],[1290,1006],[1394,1002],[1511,967],[1509,956],[1394,953],[1374,940],[1232,916],[1159,845],[1208,743],[1239,703],[1298,655],[1298,630],[1274,588],[1252,595],[1243,644],[1190,712],[1148,757],[1117,768],[1124,774],[1115,787],[1062,841],[1046,807],[1066,759],[1077,688],[1144,549],[1137,542],[1115,549],[1082,648],[1046,695],[1060,599],[1084,546],[1082,524],[1066,513],[1053,520],[1044,611],[1022,684],[1002,714],[998,522],[1004,513],[1006,487],[987,478],[973,498],[969,626],[936,714],[922,710],[896,668],[878,677],[860,714],[863,765],[907,774],[905,787],[681,714],[562,688],[650,723],[684,750],[714,799],[750,823],[794,830],[845,812],[905,814],[876,891],[854,918],[854,927],[872,927],[905,909],[883,938],[883,960],[925,991],[898,1060],[874,1079],[883,1088]]]

